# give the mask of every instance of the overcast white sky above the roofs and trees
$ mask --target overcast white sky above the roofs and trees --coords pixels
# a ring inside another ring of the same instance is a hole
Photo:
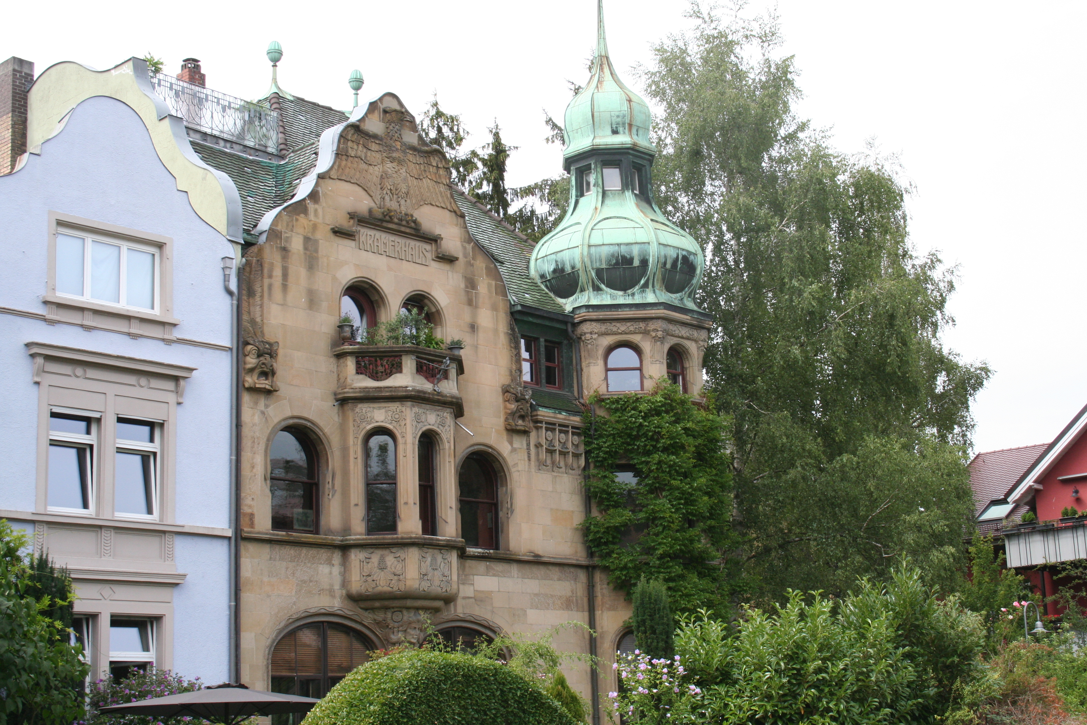
[[[421,112],[437,90],[484,141],[498,118],[521,150],[511,183],[558,173],[542,111],[559,116],[566,80],[584,83],[594,0],[508,2],[13,3],[0,58],[74,60],[98,68],[150,51],[176,73],[203,61],[208,85],[264,93],[264,49],[284,47],[280,85],[337,108],[391,90]],[[624,78],[652,43],[688,26],[687,0],[605,0],[612,59]],[[805,99],[799,112],[860,151],[874,138],[916,186],[909,201],[921,252],[939,250],[961,282],[947,341],[996,371],[979,396],[976,450],[1052,439],[1087,402],[1079,307],[1085,261],[1082,0],[986,2],[753,0],[776,8]]]

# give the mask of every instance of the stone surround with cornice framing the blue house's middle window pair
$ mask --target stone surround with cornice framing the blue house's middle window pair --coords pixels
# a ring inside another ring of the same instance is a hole
[[[197,368],[152,360],[92,352],[48,342],[26,342],[38,384],[36,513],[142,523],[174,523],[177,405],[185,400],[185,383]],[[168,389],[173,387],[173,390]],[[49,416],[52,410],[97,416],[97,448],[92,479],[97,490],[86,513],[59,513],[48,507]],[[154,516],[117,514],[114,505],[114,455],[118,417],[157,423],[160,433],[155,461],[158,500]]]

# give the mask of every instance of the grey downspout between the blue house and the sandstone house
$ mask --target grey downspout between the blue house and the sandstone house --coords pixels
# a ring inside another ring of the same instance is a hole
[[[236,279],[241,279],[241,265],[245,260],[241,258],[241,246],[238,245],[238,274]],[[238,354],[241,345],[241,305],[238,304],[238,290],[230,287],[230,272],[235,268],[233,257],[223,258],[223,287],[230,296],[230,655],[228,682],[241,682],[241,616],[238,611],[238,595],[241,589],[240,567],[241,562],[241,532],[238,526],[241,523],[239,503],[241,491],[239,480],[241,476],[241,458],[238,455],[238,447],[241,442],[241,357]],[[239,285],[240,287],[240,285]]]

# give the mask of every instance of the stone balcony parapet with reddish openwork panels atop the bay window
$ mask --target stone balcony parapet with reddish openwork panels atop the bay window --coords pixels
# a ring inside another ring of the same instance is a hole
[[[464,415],[457,380],[464,373],[461,355],[412,345],[347,345],[333,350],[337,402],[413,400],[452,408]]]

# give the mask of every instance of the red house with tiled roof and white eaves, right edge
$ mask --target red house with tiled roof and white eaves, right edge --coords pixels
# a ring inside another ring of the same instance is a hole
[[[1062,584],[1053,579],[1062,562],[1087,559],[1085,430],[1087,407],[1051,443],[987,451],[970,463],[978,532],[1002,541],[1007,565],[1042,599]],[[1045,607],[1047,614],[1058,609],[1053,602]]]

